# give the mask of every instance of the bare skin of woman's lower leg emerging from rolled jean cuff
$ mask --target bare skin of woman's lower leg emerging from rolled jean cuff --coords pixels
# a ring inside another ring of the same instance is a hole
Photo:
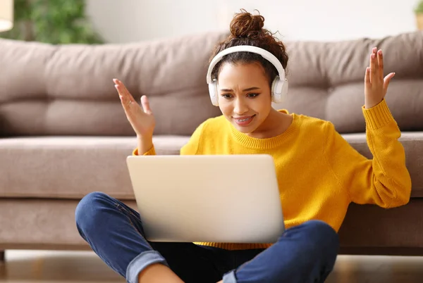
[[[149,265],[138,275],[139,283],[183,283],[183,281],[170,268],[161,263]]]

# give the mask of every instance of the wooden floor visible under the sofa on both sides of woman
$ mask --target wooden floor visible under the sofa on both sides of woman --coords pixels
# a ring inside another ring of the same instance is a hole
[[[92,252],[6,251],[0,283],[125,283]],[[423,257],[338,256],[326,283],[423,282]]]

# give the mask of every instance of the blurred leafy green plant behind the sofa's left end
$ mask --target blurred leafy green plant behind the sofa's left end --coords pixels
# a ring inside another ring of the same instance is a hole
[[[13,29],[0,37],[50,44],[101,44],[85,15],[85,0],[15,0]]]

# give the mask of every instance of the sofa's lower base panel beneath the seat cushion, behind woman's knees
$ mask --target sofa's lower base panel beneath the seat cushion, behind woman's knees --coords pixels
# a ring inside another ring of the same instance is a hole
[[[0,250],[90,250],[90,246],[80,237],[75,227],[75,209],[78,201],[0,199]],[[135,201],[124,202],[131,208],[137,209]],[[423,248],[422,206],[423,199],[412,199],[407,206],[393,209],[351,205],[339,231],[341,246],[367,249],[405,247],[413,251],[416,247],[421,249]],[[371,251],[364,250],[364,254],[370,253]],[[418,255],[422,256],[422,253]]]

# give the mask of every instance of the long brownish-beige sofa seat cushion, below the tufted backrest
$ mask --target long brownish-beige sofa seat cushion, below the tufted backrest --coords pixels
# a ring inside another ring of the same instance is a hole
[[[364,134],[343,134],[372,158]],[[178,154],[189,137],[157,136],[157,154]],[[403,133],[412,196],[423,197],[423,132]],[[133,137],[33,137],[0,139],[0,197],[80,199],[104,191],[134,199],[125,158],[136,146]]]

